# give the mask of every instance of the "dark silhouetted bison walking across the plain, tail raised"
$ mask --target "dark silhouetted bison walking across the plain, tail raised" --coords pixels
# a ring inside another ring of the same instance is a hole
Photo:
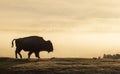
[[[35,53],[35,56],[40,59],[39,52],[40,51],[53,51],[53,45],[50,40],[45,41],[43,37],[39,36],[29,36],[24,38],[18,38],[12,40],[12,47],[14,46],[14,41],[16,44],[15,57],[17,58],[17,54],[19,54],[22,59],[22,55],[20,54],[21,50],[28,51],[28,59],[32,53]]]

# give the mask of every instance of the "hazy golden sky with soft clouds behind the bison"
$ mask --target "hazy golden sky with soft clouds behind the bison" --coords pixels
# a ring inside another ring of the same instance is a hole
[[[0,0],[0,56],[14,57],[12,39],[31,35],[54,44],[41,57],[119,53],[119,8],[119,0]]]

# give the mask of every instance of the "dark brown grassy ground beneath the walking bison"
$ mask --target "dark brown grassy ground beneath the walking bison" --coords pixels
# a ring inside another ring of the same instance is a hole
[[[120,74],[120,60],[0,58],[0,74]]]

